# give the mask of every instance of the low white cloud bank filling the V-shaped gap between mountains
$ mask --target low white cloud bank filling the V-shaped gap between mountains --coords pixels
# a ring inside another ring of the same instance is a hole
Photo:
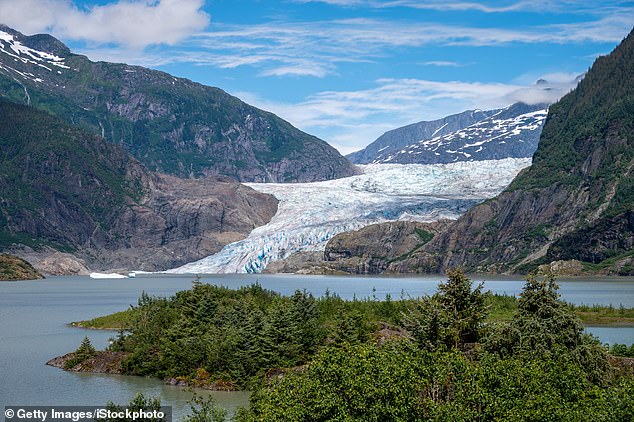
[[[380,79],[371,89],[323,91],[297,103],[269,101],[248,92],[234,95],[276,113],[347,154],[388,130],[421,120],[469,109],[505,107],[518,101],[552,103],[574,87],[575,76],[542,75],[540,79],[547,82],[540,84]]]

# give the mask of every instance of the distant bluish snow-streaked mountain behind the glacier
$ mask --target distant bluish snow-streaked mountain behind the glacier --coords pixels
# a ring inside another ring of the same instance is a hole
[[[530,157],[547,113],[545,104],[524,103],[465,111],[387,132],[348,158],[359,164],[435,164]]]

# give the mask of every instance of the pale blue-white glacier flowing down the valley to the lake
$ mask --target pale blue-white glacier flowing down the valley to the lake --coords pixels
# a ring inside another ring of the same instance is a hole
[[[395,220],[455,219],[500,193],[530,158],[450,164],[369,164],[362,174],[312,183],[247,183],[279,200],[271,221],[215,255],[167,273],[259,273],[299,251],[322,251],[334,235]]]

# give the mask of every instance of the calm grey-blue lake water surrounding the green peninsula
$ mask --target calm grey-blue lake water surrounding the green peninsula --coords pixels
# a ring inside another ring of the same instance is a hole
[[[133,279],[50,277],[45,280],[0,282],[0,409],[6,405],[125,404],[136,392],[159,396],[172,406],[174,420],[189,412],[192,393],[157,379],[117,375],[76,374],[46,366],[49,359],[74,350],[85,335],[104,348],[112,332],[68,327],[136,304],[143,291],[170,296],[191,287],[192,275],[139,275]],[[472,276],[485,290],[517,295],[521,278]],[[329,291],[343,298],[393,299],[432,294],[441,276],[334,277],[295,275],[207,275],[201,281],[238,288],[258,282],[282,294],[306,289],[316,296]],[[634,307],[634,278],[560,280],[562,298],[574,304]],[[589,327],[603,342],[634,343],[634,328]],[[248,404],[246,392],[199,392],[213,395],[233,412]],[[3,413],[3,412],[0,412]],[[4,414],[1,417],[4,420]]]

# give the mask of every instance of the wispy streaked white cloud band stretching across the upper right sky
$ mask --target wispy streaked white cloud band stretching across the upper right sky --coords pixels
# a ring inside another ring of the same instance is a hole
[[[171,59],[217,67],[253,66],[263,76],[325,77],[343,62],[382,60],[397,49],[425,46],[500,46],[511,43],[618,42],[631,30],[634,14],[582,24],[542,25],[523,29],[476,28],[424,22],[346,19],[316,22],[270,22],[259,25],[215,25],[215,31],[190,39]],[[195,57],[194,57],[195,56]],[[457,66],[429,61],[428,66]]]

